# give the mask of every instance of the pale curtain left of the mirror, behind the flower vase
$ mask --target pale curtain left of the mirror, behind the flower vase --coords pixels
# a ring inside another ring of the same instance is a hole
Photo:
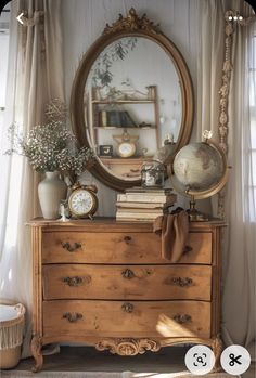
[[[21,301],[27,310],[23,355],[29,354],[31,309],[31,250],[26,222],[39,214],[36,174],[20,156],[8,149],[7,129],[16,122],[23,133],[43,121],[47,102],[63,97],[60,0],[12,1],[7,117],[1,131],[1,257],[0,297]],[[26,11],[24,24],[17,14]]]

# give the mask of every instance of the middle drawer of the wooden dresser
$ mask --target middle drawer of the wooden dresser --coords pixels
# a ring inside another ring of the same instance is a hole
[[[208,265],[43,265],[43,299],[210,300]]]

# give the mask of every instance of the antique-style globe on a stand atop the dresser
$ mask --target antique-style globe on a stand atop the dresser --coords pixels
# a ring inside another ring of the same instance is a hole
[[[219,192],[228,179],[227,158],[214,142],[190,143],[182,147],[172,162],[171,182],[177,192],[189,196],[190,219],[205,220],[195,209],[195,199]]]

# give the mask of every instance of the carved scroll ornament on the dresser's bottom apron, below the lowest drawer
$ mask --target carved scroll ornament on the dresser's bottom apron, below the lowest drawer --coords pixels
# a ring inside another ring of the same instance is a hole
[[[137,355],[145,351],[157,352],[161,344],[151,339],[104,339],[95,344],[95,349],[108,350],[112,354]]]

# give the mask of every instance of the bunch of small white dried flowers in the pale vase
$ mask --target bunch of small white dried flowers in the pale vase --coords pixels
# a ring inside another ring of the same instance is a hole
[[[24,155],[36,171],[57,170],[73,182],[94,158],[91,148],[78,147],[74,134],[60,120],[35,126],[26,136],[13,125],[9,128],[9,139],[12,147],[8,154]]]

